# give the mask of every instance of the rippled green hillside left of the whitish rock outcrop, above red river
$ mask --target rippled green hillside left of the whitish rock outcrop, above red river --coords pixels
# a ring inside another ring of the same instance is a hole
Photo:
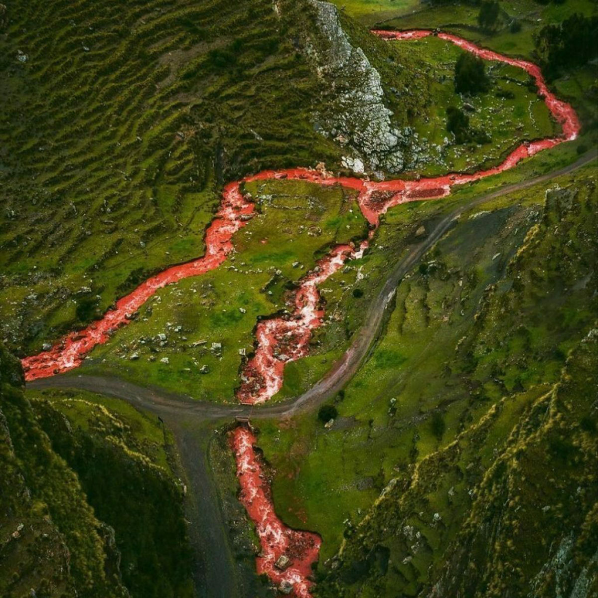
[[[321,90],[293,45],[309,11],[281,8],[11,3],[0,304],[13,347],[75,325],[81,297],[99,295],[103,311],[148,272],[201,255],[222,181],[338,158],[310,124]]]

